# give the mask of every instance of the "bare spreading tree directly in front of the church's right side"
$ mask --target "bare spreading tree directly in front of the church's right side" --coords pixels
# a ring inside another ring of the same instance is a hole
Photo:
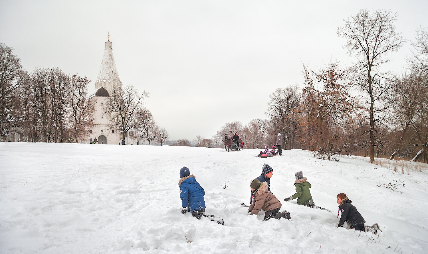
[[[125,140],[127,131],[139,127],[140,123],[136,121],[137,112],[144,105],[143,99],[150,93],[139,93],[133,85],[127,85],[124,88],[113,86],[109,95],[110,103],[106,103],[104,114],[110,116],[110,129],[122,132],[122,140]]]

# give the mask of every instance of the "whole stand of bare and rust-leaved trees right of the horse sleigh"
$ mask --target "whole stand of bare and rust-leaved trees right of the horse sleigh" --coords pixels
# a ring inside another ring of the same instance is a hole
[[[396,31],[397,14],[361,10],[337,28],[355,62],[310,70],[303,66],[304,87],[278,88],[270,95],[268,120],[226,123],[213,136],[238,132],[244,148],[275,144],[333,155],[420,159],[428,162],[428,29],[419,28],[404,74],[383,71],[389,55],[406,42]]]

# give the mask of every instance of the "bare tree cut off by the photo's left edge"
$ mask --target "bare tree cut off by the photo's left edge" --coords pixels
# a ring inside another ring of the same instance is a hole
[[[0,137],[21,126],[21,102],[17,91],[24,85],[27,75],[21,59],[12,51],[0,42]]]

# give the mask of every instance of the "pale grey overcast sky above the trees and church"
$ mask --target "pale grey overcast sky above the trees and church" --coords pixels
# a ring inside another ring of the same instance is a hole
[[[336,27],[360,9],[378,8],[398,12],[395,25],[407,39],[428,27],[426,0],[0,0],[0,41],[28,72],[59,67],[88,76],[91,92],[110,32],[122,83],[151,93],[146,107],[170,140],[192,140],[226,122],[266,118],[270,93],[303,86],[302,64],[351,66]],[[383,70],[401,72],[409,47]]]

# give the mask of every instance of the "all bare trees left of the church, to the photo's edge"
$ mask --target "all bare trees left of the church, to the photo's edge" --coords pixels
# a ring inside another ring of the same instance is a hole
[[[86,138],[94,106],[88,102],[87,77],[59,68],[28,74],[13,49],[0,43],[0,136],[21,141],[77,142]]]

